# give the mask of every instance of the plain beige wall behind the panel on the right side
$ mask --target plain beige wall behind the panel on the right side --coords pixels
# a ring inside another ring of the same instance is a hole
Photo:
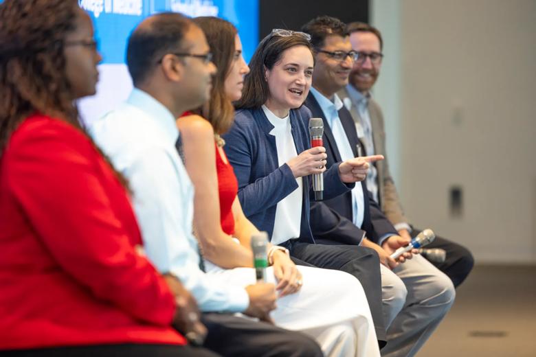
[[[373,0],[371,19],[398,55],[375,95],[407,215],[478,262],[536,262],[536,1]]]

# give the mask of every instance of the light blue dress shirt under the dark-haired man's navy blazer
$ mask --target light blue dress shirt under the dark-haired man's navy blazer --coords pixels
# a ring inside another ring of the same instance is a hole
[[[324,112],[324,115],[326,116],[326,122],[328,122],[328,125],[331,128],[342,161],[353,159],[354,153],[350,146],[350,141],[348,141],[348,137],[346,137],[346,133],[344,133],[344,128],[341,119],[339,118],[339,109],[343,106],[339,96],[337,94],[333,95],[332,102],[313,87],[311,87],[311,93],[313,93],[320,108],[322,108],[322,112]],[[364,207],[363,186],[357,184],[352,189],[353,224],[357,227],[361,227],[363,224],[365,214]]]

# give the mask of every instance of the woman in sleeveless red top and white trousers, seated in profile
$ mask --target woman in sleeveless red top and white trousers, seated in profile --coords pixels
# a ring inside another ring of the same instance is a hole
[[[195,187],[194,226],[206,272],[225,284],[262,287],[255,284],[252,263],[254,253],[262,258],[264,252],[267,262],[257,273],[279,290],[277,308],[269,316],[277,326],[313,336],[326,356],[379,356],[359,281],[338,271],[295,266],[284,249],[267,244],[265,235],[243,214],[236,176],[224,152],[232,143],[219,135],[232,126],[232,101],[241,98],[249,67],[231,23],[214,17],[199,17],[194,23],[205,32],[217,72],[210,100],[177,119],[177,146]]]

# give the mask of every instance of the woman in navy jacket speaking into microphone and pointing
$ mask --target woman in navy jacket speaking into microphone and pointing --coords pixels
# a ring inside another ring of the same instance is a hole
[[[324,175],[323,196],[328,199],[365,179],[368,163],[355,158],[326,170],[325,149],[310,146],[311,111],[302,106],[313,76],[309,39],[302,32],[272,30],[260,42],[236,102],[234,124],[223,135],[225,153],[238,179],[245,216],[268,232],[271,244],[289,249],[296,262],[350,273],[361,282],[369,303],[381,306],[377,253],[361,246],[314,244],[311,233],[310,175]],[[384,341],[381,308],[372,312],[372,318],[377,337]]]

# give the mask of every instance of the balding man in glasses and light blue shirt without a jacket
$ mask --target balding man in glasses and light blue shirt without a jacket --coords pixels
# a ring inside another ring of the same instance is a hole
[[[129,38],[135,89],[119,108],[93,122],[90,132],[129,181],[144,253],[157,269],[178,277],[203,312],[243,312],[268,320],[275,308],[273,284],[243,288],[216,281],[199,267],[192,235],[194,191],[175,149],[175,118],[208,99],[216,71],[211,57],[192,21],[180,14],[150,16]],[[281,356],[322,354],[310,338],[272,325],[228,314],[205,314],[203,322],[209,330],[205,347],[223,355],[265,356],[273,345]],[[233,342],[237,336],[243,336],[240,344]]]

